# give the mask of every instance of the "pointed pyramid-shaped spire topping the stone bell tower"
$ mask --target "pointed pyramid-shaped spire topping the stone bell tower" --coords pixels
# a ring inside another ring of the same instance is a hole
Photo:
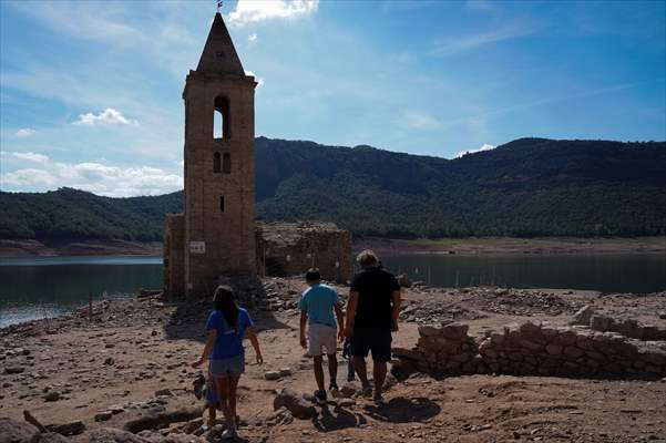
[[[213,20],[196,72],[245,76],[243,64],[240,64],[229,31],[227,31],[219,12],[215,14]]]

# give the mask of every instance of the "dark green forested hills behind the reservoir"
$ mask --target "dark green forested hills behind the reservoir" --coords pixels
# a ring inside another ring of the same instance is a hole
[[[666,234],[666,143],[521,138],[444,159],[256,140],[257,214],[332,220],[356,235]],[[0,193],[0,238],[162,237],[183,194]]]

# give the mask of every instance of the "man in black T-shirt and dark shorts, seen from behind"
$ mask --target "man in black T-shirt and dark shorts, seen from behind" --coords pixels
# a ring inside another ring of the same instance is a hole
[[[351,280],[345,333],[351,339],[354,367],[363,385],[363,395],[372,394],[366,370],[366,357],[372,352],[373,400],[381,404],[386,363],[391,359],[391,332],[398,331],[400,285],[380,267],[373,251],[363,250],[356,260],[361,271]]]

